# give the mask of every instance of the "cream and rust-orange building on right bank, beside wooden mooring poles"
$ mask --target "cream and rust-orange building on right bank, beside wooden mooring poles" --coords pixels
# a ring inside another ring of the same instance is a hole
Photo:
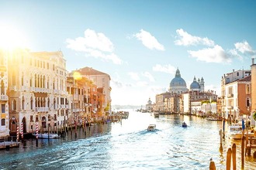
[[[222,117],[240,121],[251,110],[251,71],[227,73],[221,81]]]

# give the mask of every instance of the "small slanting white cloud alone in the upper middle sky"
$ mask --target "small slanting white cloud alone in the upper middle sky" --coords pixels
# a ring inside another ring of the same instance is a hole
[[[139,39],[148,49],[158,49],[164,51],[164,46],[161,45],[161,43],[159,43],[157,39],[150,34],[150,32],[140,29],[140,32],[134,36]]]

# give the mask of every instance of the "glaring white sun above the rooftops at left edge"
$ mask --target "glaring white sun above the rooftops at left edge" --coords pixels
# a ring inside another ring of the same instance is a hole
[[[0,48],[16,49],[26,48],[26,39],[19,29],[0,25]]]

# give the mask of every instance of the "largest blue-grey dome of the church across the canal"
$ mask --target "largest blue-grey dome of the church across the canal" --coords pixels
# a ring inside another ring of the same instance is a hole
[[[187,84],[185,83],[185,80],[182,79],[181,73],[177,69],[175,73],[175,78],[171,80],[169,92],[181,94],[186,91],[188,91]]]

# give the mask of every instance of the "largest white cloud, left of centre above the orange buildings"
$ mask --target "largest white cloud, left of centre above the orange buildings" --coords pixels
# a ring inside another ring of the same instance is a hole
[[[110,39],[102,32],[95,32],[92,29],[85,30],[84,37],[66,39],[67,48],[85,53],[86,56],[93,56],[115,64],[122,64],[123,61],[114,52],[114,46]]]

